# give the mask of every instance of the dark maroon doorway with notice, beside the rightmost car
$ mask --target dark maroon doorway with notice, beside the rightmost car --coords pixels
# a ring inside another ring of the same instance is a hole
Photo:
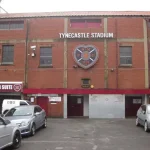
[[[137,110],[142,105],[142,96],[125,97],[125,117],[135,117]]]

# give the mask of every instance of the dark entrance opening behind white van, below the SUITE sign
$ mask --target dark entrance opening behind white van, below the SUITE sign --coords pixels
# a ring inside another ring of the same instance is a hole
[[[21,99],[20,95],[0,95],[0,114],[2,112],[2,103],[4,99]]]

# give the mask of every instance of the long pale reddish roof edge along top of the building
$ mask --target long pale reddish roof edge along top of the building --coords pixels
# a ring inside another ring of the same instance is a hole
[[[53,17],[150,17],[150,11],[66,11],[0,14],[0,19]]]

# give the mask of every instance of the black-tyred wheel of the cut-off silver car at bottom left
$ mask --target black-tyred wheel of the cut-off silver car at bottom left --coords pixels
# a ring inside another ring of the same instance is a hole
[[[21,134],[19,131],[16,131],[13,137],[12,148],[17,149],[20,147],[20,145],[21,145]]]

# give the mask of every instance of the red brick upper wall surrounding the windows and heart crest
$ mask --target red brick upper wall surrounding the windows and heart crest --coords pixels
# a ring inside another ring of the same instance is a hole
[[[116,28],[117,25],[117,28]],[[28,56],[28,88],[62,88],[63,87],[63,67],[64,67],[64,43],[59,39],[59,33],[64,32],[63,18],[39,18],[30,19],[29,39],[35,40],[35,43],[29,42],[28,53],[31,54],[31,45],[36,45],[36,57]],[[25,28],[26,29],[26,28]],[[71,29],[68,22],[68,32],[104,32],[104,24],[99,29]],[[113,32],[118,38],[143,38],[143,20],[141,18],[108,18],[108,32]],[[23,31],[0,31],[0,39],[24,39]],[[38,40],[55,39],[51,42],[38,42]],[[98,48],[100,57],[94,67],[83,70],[73,68],[75,64],[72,52],[79,44],[91,44]],[[122,68],[119,64],[119,55],[116,55],[119,44],[133,45],[133,66],[131,68]],[[1,70],[1,81],[24,80],[23,71],[19,68],[24,66],[25,44],[15,44],[15,64],[7,66],[8,71]],[[39,50],[41,45],[52,45],[53,68],[39,67]],[[104,43],[101,40],[68,40],[68,88],[81,88],[81,78],[89,77],[95,88],[104,88]],[[0,69],[6,66],[0,66]],[[16,72],[9,69],[16,68]],[[117,43],[116,39],[108,42],[108,88],[144,88],[144,45],[140,42]],[[111,72],[111,68],[118,68]]]

